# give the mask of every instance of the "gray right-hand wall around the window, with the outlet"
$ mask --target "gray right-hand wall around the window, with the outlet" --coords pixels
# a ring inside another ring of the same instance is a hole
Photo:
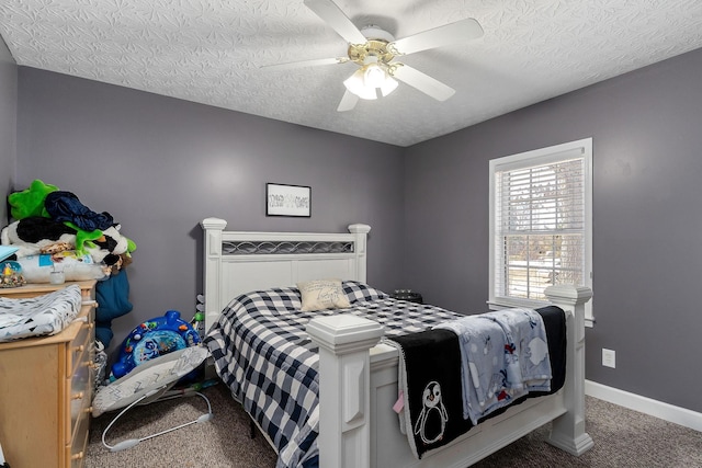
[[[702,411],[701,76],[697,50],[409,148],[407,285],[485,310],[488,161],[593,137],[586,376]],[[616,352],[615,369],[601,366],[602,347]]]

